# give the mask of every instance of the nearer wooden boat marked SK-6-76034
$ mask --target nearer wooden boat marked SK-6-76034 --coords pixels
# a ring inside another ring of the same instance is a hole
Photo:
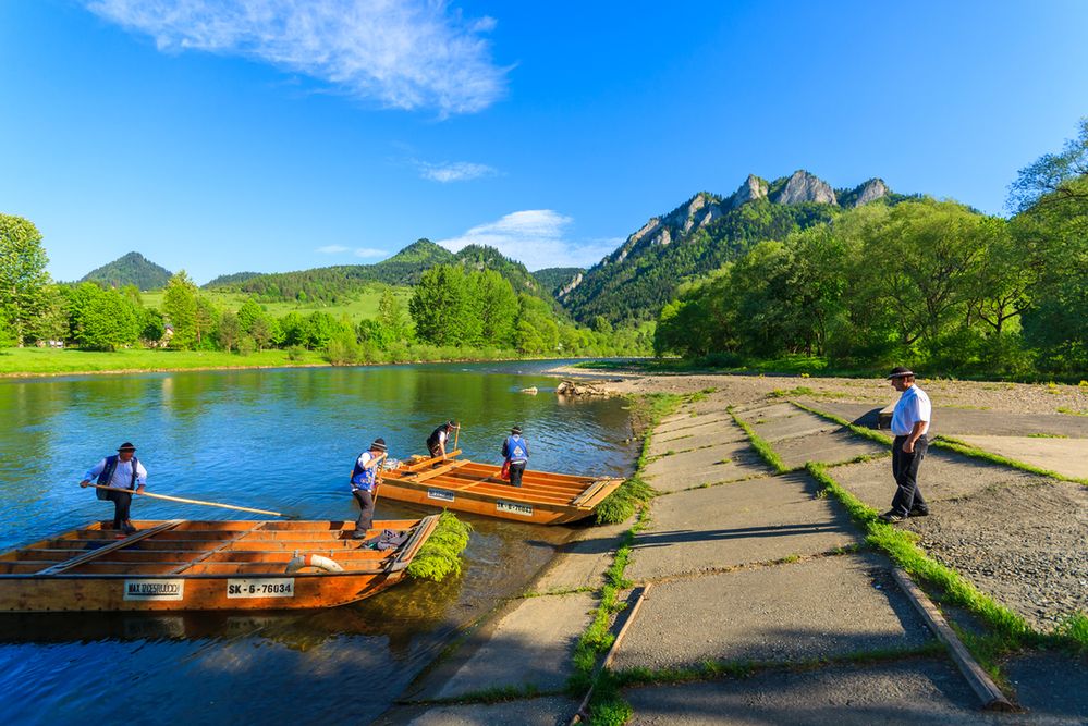
[[[294,610],[369,598],[400,581],[438,516],[376,521],[408,531],[379,551],[344,521],[100,522],[0,555],[0,612]]]

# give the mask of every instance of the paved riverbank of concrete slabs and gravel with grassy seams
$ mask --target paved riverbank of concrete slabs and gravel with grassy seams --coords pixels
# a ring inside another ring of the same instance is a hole
[[[1016,723],[1084,723],[1088,488],[978,453],[1028,442],[1043,468],[1075,464],[1088,419],[1055,409],[1088,386],[924,380],[939,433],[980,448],[934,444],[929,516],[890,527],[887,440],[836,422],[894,401],[885,380],[595,383],[699,394],[649,434],[639,476],[657,496],[582,532],[379,724],[569,723],[595,664],[590,723],[981,725],[1010,702]],[[608,656],[582,662],[589,640]]]

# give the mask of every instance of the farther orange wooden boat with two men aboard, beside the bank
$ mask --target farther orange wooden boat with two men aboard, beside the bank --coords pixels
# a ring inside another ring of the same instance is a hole
[[[414,457],[382,472],[383,497],[472,512],[489,517],[564,525],[584,519],[623,483],[613,477],[575,477],[526,469],[519,488],[500,479],[501,468],[459,459]]]

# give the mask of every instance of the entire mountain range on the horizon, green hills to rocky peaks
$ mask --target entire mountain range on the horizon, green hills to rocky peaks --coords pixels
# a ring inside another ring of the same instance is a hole
[[[413,285],[436,264],[496,270],[514,290],[550,302],[580,322],[603,317],[612,324],[655,318],[676,286],[737,259],[753,245],[829,221],[840,208],[906,199],[880,179],[835,189],[798,170],[768,181],[748,175],[729,196],[700,192],[667,214],[650,218],[623,244],[589,270],[548,268],[530,273],[524,264],[492,247],[469,245],[456,253],[418,239],[376,264],[345,264],[297,272],[221,275],[208,290],[252,294],[266,300],[325,300],[353,296],[372,283]],[[161,287],[170,272],[130,253],[88,273],[102,284]]]

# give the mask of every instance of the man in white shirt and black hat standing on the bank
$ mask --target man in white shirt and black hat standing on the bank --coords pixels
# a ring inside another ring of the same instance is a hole
[[[929,448],[929,423],[933,408],[929,396],[914,382],[914,372],[908,368],[895,368],[891,376],[892,387],[898,391],[898,403],[892,414],[892,475],[895,477],[895,496],[892,508],[880,515],[882,521],[895,524],[907,517],[925,517],[929,514],[921,490],[918,489],[918,467]]]

